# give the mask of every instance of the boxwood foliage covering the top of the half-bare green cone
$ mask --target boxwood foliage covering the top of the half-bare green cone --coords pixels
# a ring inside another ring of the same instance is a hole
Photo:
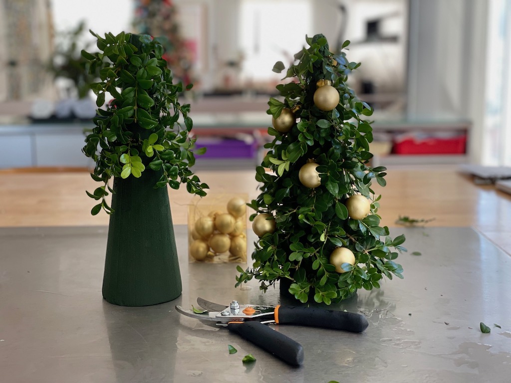
[[[161,173],[156,187],[168,184],[177,189],[186,183],[188,192],[205,196],[207,185],[189,169],[195,163],[191,148],[196,140],[188,137],[193,126],[190,104],[179,103],[183,87],[172,83],[172,72],[161,58],[164,47],[160,39],[124,32],[117,36],[106,33],[103,38],[90,32],[97,38],[100,52],[82,51],[82,56],[89,62],[90,73],[99,69],[100,81],[90,84],[96,104],[103,106],[107,93],[114,98],[106,110],[98,109],[96,127],[83,148],[96,162],[92,178],[104,183],[94,193],[87,192],[101,201],[92,214],[102,208],[112,212],[105,201],[111,177],[139,178],[147,167]],[[187,85],[187,89],[191,87]],[[195,154],[204,151],[201,148]]]

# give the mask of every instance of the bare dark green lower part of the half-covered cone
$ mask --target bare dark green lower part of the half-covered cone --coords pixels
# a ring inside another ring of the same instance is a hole
[[[181,295],[181,276],[167,188],[161,174],[115,177],[103,297],[121,306],[148,306]]]

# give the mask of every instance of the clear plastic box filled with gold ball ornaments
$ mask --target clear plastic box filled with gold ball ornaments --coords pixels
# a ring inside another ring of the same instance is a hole
[[[246,195],[208,194],[188,209],[190,262],[247,261]]]

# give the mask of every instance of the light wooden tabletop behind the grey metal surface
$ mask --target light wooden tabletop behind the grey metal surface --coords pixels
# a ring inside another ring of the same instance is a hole
[[[210,185],[210,195],[258,195],[253,170],[197,170]],[[373,185],[382,195],[382,224],[399,226],[398,218],[433,220],[427,226],[471,226],[511,254],[511,196],[493,186],[478,186],[455,167],[393,167],[387,186]],[[98,183],[86,172],[0,171],[0,227],[107,225],[101,212],[85,194]],[[174,224],[186,224],[193,197],[185,188],[169,189]]]

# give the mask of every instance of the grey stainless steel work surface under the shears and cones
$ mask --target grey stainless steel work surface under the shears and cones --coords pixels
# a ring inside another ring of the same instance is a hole
[[[225,304],[281,301],[278,290],[262,295],[255,283],[235,289],[235,264],[188,264],[184,226],[176,227],[181,297],[149,307],[105,302],[106,230],[0,229],[2,383],[510,379],[511,257],[470,228],[397,229],[410,252],[422,253],[398,258],[405,279],[331,307],[365,314],[363,333],[275,326],[303,345],[301,368],[176,312],[176,304],[190,307],[197,296]],[[480,322],[491,333],[481,333]],[[229,344],[238,353],[229,355]],[[248,353],[257,362],[244,365]]]

